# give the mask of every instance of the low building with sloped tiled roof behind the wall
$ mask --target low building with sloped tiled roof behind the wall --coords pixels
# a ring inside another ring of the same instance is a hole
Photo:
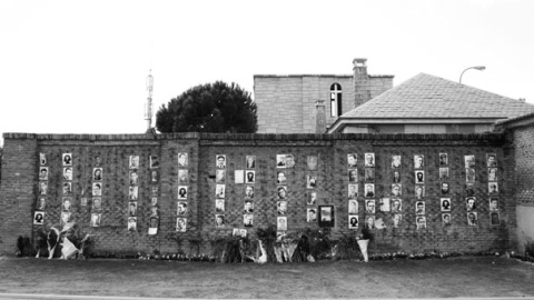
[[[340,116],[329,133],[481,133],[534,106],[419,73]]]

